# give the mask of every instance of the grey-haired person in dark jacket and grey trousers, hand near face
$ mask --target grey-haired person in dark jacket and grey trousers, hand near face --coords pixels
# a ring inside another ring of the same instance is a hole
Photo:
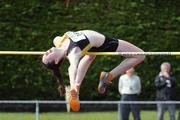
[[[157,88],[156,99],[158,101],[175,100],[175,77],[171,74],[171,65],[168,62],[161,64],[161,71],[156,76],[155,86]],[[157,120],[164,119],[166,109],[169,111],[170,120],[175,120],[175,104],[157,104]]]

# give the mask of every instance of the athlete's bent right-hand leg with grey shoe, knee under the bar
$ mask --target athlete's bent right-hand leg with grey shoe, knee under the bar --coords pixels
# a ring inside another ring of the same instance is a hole
[[[117,52],[143,52],[135,45],[123,40],[119,40]],[[126,70],[136,66],[145,59],[144,55],[124,55],[126,59],[122,61],[117,67],[111,70],[109,73],[101,72],[98,91],[104,94],[109,83],[118,75],[123,74]]]

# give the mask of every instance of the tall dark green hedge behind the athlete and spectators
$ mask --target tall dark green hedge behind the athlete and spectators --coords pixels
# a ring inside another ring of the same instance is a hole
[[[146,52],[180,51],[179,0],[0,0],[0,50],[45,51],[66,31],[91,29],[126,40]],[[118,78],[108,94],[97,92],[99,74],[124,58],[98,56],[80,92],[81,100],[119,100]],[[154,79],[168,61],[180,90],[180,56],[147,56],[136,68],[141,100],[155,100]],[[66,61],[63,76],[68,85]],[[0,100],[64,100],[41,56],[0,56]],[[180,94],[177,94],[177,100]]]

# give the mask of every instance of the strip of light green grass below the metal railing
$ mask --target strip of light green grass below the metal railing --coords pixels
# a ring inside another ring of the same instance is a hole
[[[156,111],[141,111],[142,120],[156,120]],[[177,115],[177,114],[176,114]],[[177,117],[177,116],[176,116]],[[165,114],[164,120],[169,120]],[[35,113],[0,113],[0,120],[36,120]],[[117,112],[49,112],[41,113],[39,120],[118,120]],[[130,120],[133,120],[132,114]]]

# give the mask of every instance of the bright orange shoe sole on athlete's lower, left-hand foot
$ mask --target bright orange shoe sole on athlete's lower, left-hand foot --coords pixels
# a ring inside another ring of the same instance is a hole
[[[77,112],[80,110],[80,103],[79,103],[79,95],[78,92],[75,89],[72,89],[70,91],[70,100],[69,104],[73,111]]]

